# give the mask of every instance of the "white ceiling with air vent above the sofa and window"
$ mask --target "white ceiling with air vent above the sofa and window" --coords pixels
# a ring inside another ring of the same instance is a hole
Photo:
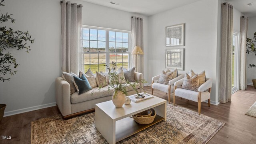
[[[151,16],[166,10],[178,8],[186,4],[192,4],[200,0],[83,0],[93,4],[101,6],[107,6],[118,10],[124,10],[126,12],[143,14]],[[115,2],[120,4],[110,4],[109,2]]]

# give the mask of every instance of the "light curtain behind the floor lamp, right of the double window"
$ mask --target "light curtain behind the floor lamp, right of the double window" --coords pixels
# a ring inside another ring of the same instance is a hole
[[[143,18],[136,18],[132,16],[132,50],[135,46],[140,46],[142,51],[144,52],[143,45]],[[130,52],[132,52],[132,50]],[[137,72],[144,73],[144,56],[141,54],[137,55],[138,66],[136,64],[135,55],[131,55],[132,64],[131,67],[136,66],[138,68]]]

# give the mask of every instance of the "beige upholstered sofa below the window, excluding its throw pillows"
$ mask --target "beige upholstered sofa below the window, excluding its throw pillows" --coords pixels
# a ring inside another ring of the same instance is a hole
[[[104,73],[108,77],[108,73]],[[142,80],[143,74],[135,72],[135,80]],[[140,88],[141,87],[141,88]],[[138,92],[143,92],[143,84],[138,83],[136,86]],[[93,92],[93,93],[92,93]],[[61,77],[55,80],[55,97],[57,107],[62,118],[67,119],[95,110],[95,104],[112,100],[114,90],[104,86],[100,91],[98,87],[92,88],[88,92],[78,95],[77,92],[70,95],[70,84]],[[128,95],[136,94],[131,86],[128,86]]]

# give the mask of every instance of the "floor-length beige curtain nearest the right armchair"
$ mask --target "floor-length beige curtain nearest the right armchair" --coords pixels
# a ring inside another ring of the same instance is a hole
[[[221,103],[231,101],[231,55],[233,38],[233,6],[221,4],[222,38],[221,38],[221,64],[220,64],[220,93]]]

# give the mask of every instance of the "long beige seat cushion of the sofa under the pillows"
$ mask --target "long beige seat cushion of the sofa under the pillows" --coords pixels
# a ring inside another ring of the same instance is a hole
[[[136,83],[136,88],[139,89],[140,84]],[[133,88],[131,86],[128,86],[127,91],[131,91],[131,90],[133,90]],[[99,91],[99,88],[96,87],[80,95],[78,95],[78,93],[75,92],[74,94],[71,95],[71,103],[76,104],[78,102],[84,102],[84,101],[93,100],[96,98],[102,98],[104,96],[110,96],[113,93],[114,93],[114,89],[110,88],[110,91],[108,91],[108,86],[102,87],[100,91]]]

